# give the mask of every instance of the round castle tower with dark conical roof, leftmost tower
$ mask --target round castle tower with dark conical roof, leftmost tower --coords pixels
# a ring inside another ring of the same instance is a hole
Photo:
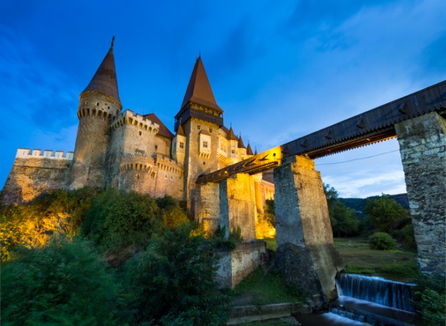
[[[122,105],[114,65],[113,43],[98,71],[79,95],[79,127],[68,189],[105,185],[105,157],[109,122],[120,114]]]

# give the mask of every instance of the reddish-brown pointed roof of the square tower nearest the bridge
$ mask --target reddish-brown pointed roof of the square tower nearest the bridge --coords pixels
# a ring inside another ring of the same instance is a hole
[[[189,84],[187,85],[183,103],[181,104],[181,109],[188,102],[201,104],[205,107],[215,109],[215,111],[220,114],[223,113],[223,110],[217,105],[217,102],[215,102],[214,93],[210,87],[206,70],[204,70],[201,56],[199,56],[195,62],[194,70],[192,70],[192,75],[190,76]]]

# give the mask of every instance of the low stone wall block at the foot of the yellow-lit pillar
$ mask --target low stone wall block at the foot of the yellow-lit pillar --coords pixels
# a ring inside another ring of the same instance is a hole
[[[220,253],[217,281],[224,288],[234,288],[261,263],[266,263],[266,243],[263,241],[244,242],[236,249]]]

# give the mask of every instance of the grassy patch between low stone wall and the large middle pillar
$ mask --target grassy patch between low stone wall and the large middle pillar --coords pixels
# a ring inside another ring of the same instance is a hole
[[[233,306],[305,302],[298,288],[287,286],[280,272],[259,266],[232,290]]]

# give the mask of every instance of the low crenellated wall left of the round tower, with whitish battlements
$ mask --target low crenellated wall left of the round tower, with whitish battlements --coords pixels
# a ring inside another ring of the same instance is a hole
[[[39,194],[66,187],[73,153],[56,150],[17,149],[2,190],[2,203],[23,203]]]

